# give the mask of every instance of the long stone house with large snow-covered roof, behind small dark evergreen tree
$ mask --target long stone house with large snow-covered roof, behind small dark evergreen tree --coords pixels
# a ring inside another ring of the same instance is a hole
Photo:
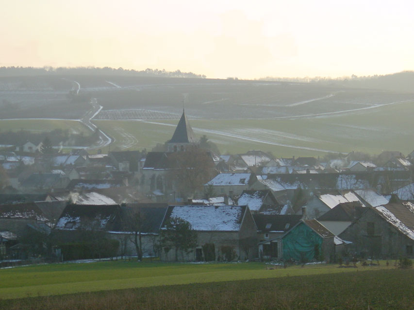
[[[247,206],[169,206],[161,225],[169,218],[188,221],[197,232],[197,246],[181,253],[183,261],[247,260],[258,257],[257,227]],[[161,251],[162,260],[173,260],[174,251]]]

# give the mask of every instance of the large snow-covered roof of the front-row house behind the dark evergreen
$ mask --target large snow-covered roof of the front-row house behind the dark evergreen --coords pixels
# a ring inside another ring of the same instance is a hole
[[[196,231],[238,232],[246,206],[169,206],[166,217],[180,217]]]

